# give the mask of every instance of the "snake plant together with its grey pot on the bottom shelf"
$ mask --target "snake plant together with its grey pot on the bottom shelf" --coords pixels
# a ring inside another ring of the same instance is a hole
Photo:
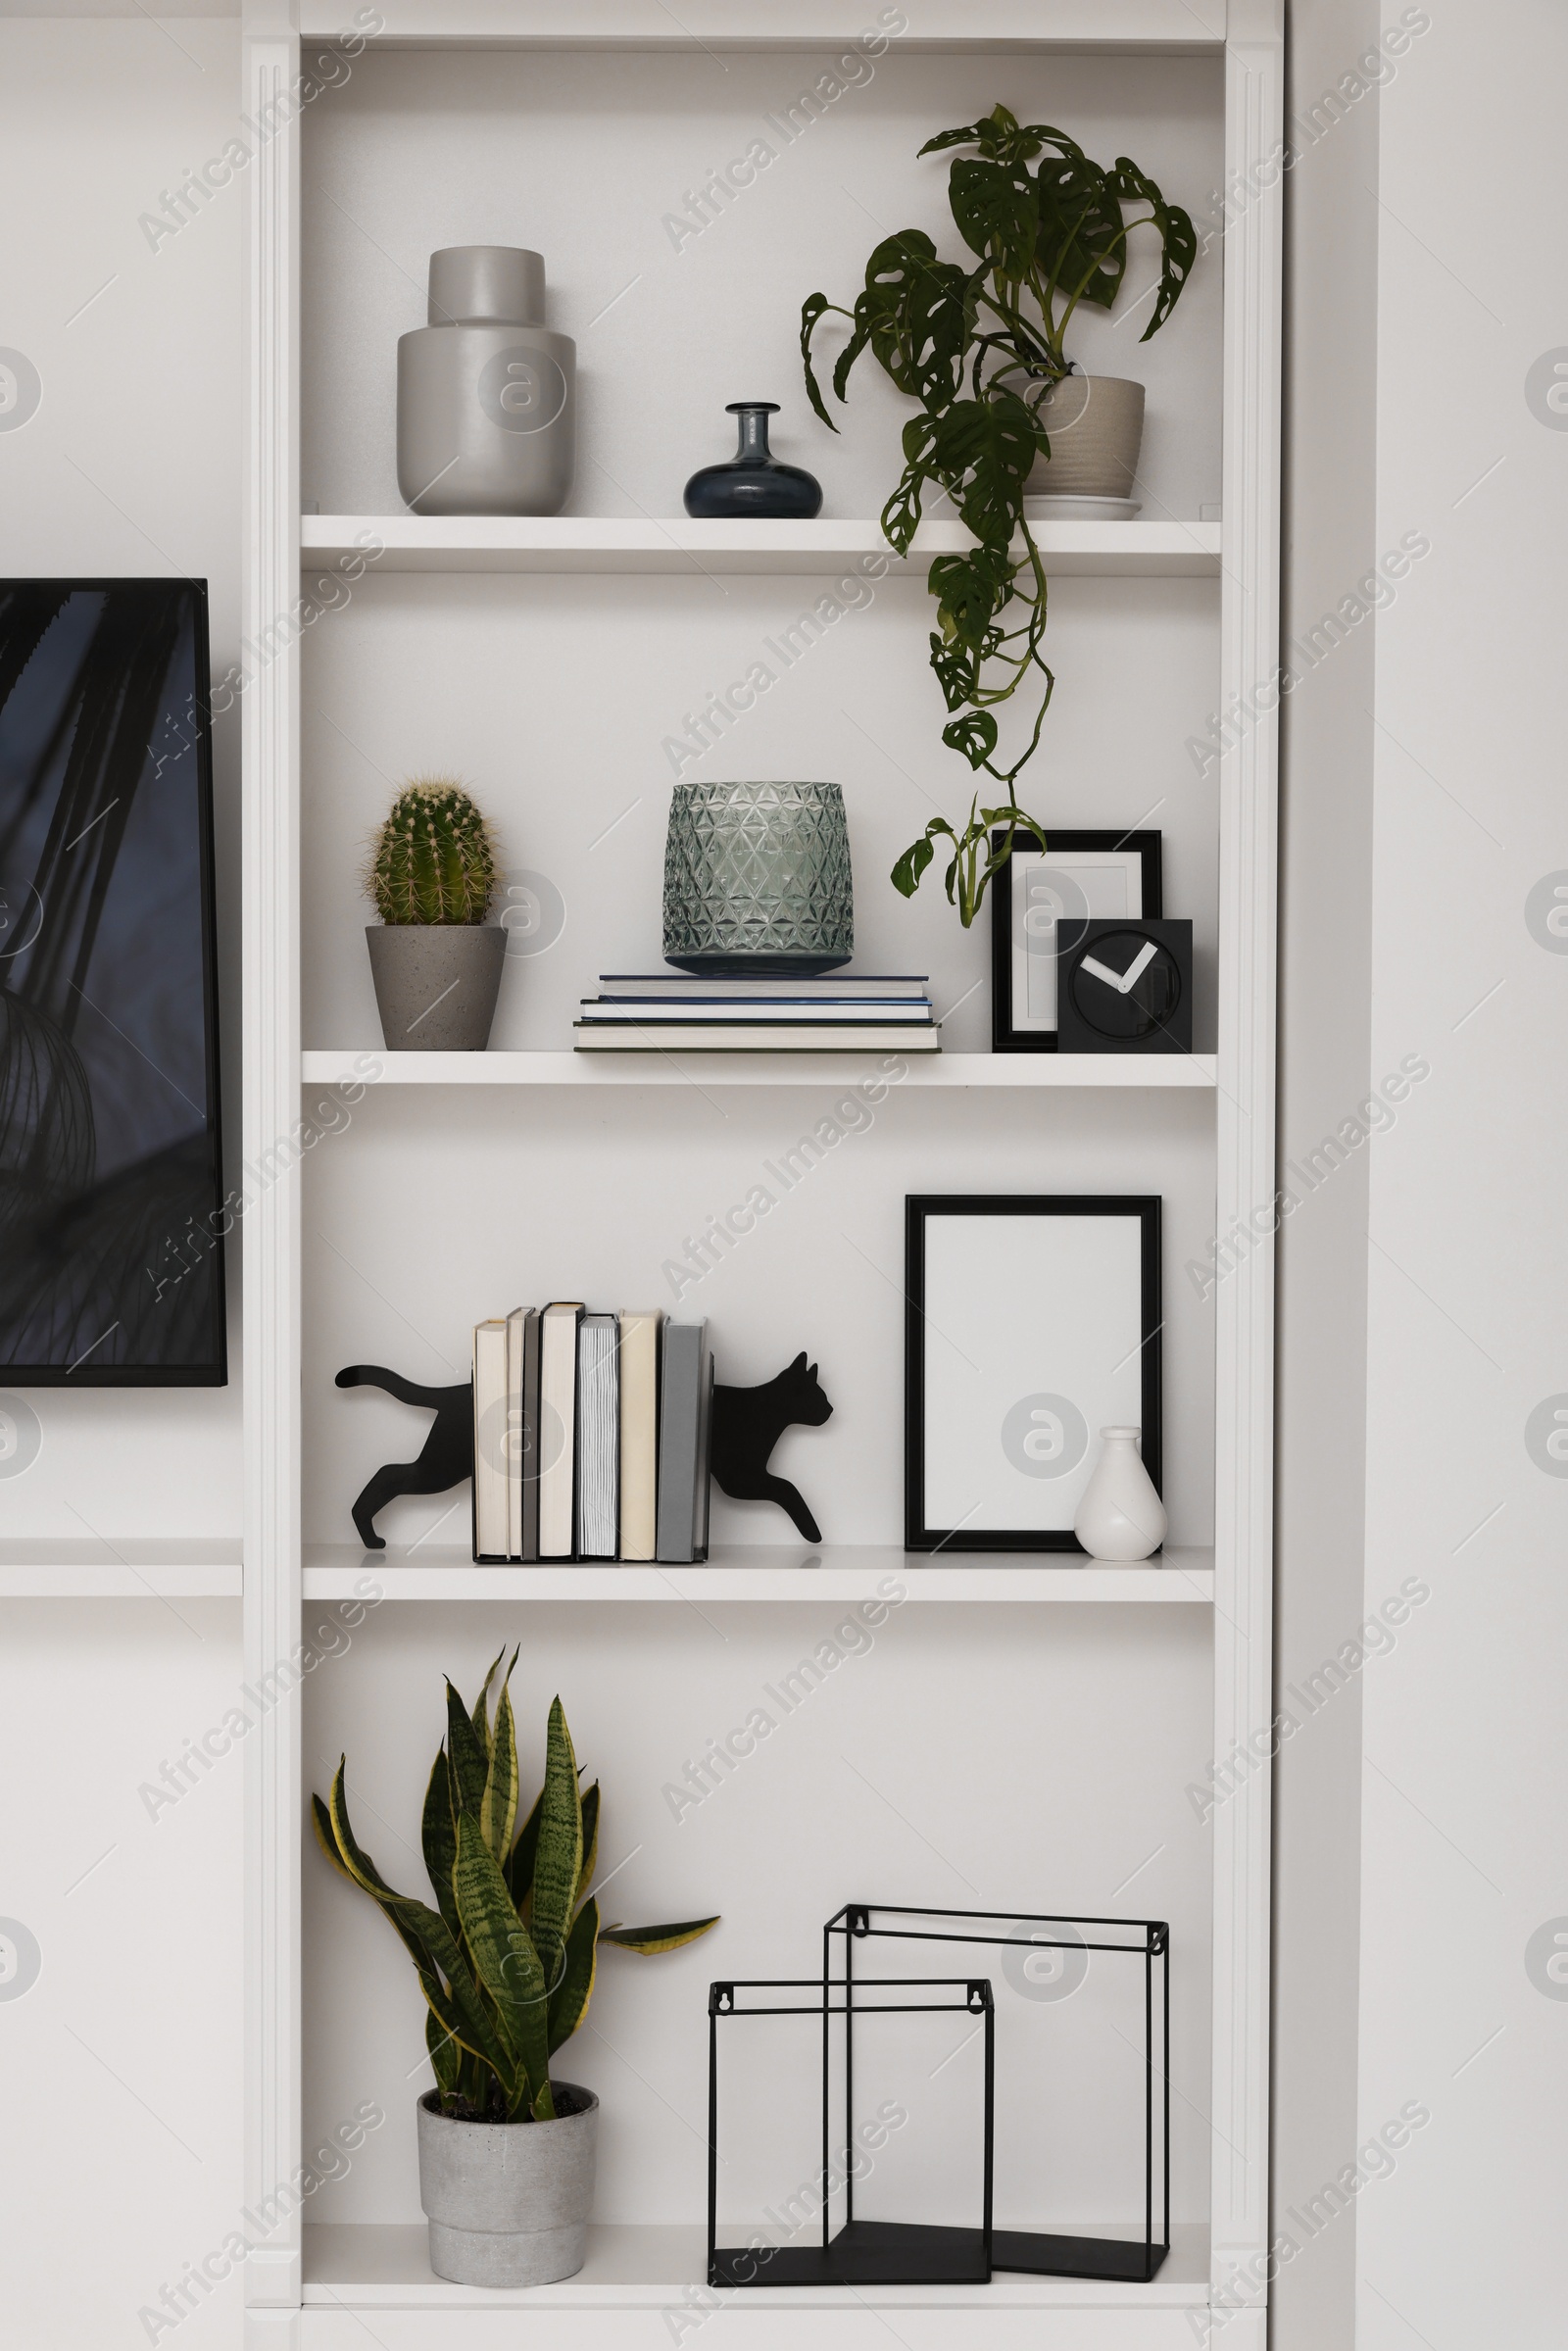
[[[458,2285],[548,2285],[588,2252],[599,2099],[552,2078],[550,2059],[588,2015],[602,1942],[675,1951],[717,1918],[602,1925],[592,1895],[599,1784],[578,1787],[559,1697],[545,1784],[517,1827],[517,1730],[501,1657],[468,1712],[447,1683],[447,1740],[425,1791],[423,1850],[435,1909],[395,1893],[348,1822],[346,1763],[315,1836],[383,1909],[425,1996],[435,2090],[418,2099],[418,2196],[430,2269]]]

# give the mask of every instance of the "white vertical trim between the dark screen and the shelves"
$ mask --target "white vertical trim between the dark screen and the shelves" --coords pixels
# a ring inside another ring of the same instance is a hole
[[[280,1660],[299,1643],[299,663],[284,616],[299,597],[299,38],[287,0],[247,0],[249,411],[240,703],[244,828],[244,2201],[299,2165],[299,1697]],[[299,2342],[299,2212],[244,2264],[266,2351]]]

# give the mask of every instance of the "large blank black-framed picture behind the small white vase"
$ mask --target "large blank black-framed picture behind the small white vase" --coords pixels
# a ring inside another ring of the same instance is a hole
[[[905,1549],[1081,1552],[1103,1427],[1159,1488],[1159,1197],[905,1199]]]

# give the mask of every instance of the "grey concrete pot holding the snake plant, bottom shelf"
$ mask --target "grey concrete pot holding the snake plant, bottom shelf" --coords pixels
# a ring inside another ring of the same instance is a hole
[[[418,2102],[418,2201],[430,2269],[454,2285],[550,2285],[588,2259],[599,2099],[574,2083],[578,2114],[552,2123],[456,2123],[440,2095]]]

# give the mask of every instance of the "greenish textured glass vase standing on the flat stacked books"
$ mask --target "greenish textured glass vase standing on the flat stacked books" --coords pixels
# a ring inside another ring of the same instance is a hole
[[[835,971],[856,952],[837,783],[677,783],[665,962],[701,978]]]

